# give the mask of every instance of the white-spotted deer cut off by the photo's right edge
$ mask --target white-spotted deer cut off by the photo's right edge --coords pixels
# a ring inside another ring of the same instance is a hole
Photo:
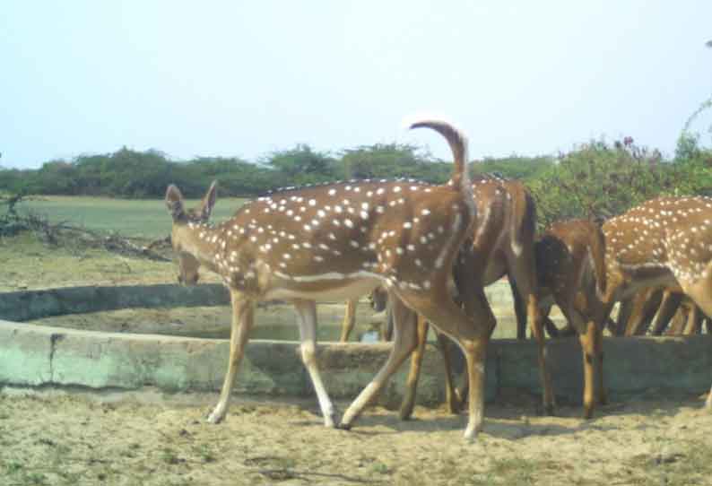
[[[712,198],[658,197],[606,221],[603,233],[605,315],[637,291],[665,287],[712,317]]]

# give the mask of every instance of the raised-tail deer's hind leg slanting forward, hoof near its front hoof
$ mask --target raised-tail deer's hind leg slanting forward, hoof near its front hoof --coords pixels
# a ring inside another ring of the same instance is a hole
[[[342,429],[351,429],[353,421],[355,421],[363,409],[378,395],[378,392],[386,385],[388,378],[395,373],[401,366],[403,361],[411,354],[417,344],[416,340],[416,315],[406,308],[401,299],[398,299],[394,294],[390,295],[391,306],[394,317],[394,334],[395,339],[391,353],[386,360],[386,364],[378,371],[369,385],[367,385],[356,399],[349,405],[349,408],[344,412],[339,427]]]

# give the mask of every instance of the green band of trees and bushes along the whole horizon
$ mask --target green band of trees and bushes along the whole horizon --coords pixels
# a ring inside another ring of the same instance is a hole
[[[122,148],[73,161],[48,161],[40,169],[0,169],[0,193],[160,198],[173,183],[187,197],[203,195],[213,179],[221,195],[254,196],[277,187],[351,178],[417,178],[442,183],[452,170],[418,147],[361,146],[333,155],[306,144],[250,162],[236,157],[171,161],[162,152]],[[540,225],[574,217],[610,217],[656,195],[712,195],[712,149],[683,131],[665,159],[630,137],[582,143],[556,157],[485,159],[473,177],[496,173],[523,180],[537,203]]]

